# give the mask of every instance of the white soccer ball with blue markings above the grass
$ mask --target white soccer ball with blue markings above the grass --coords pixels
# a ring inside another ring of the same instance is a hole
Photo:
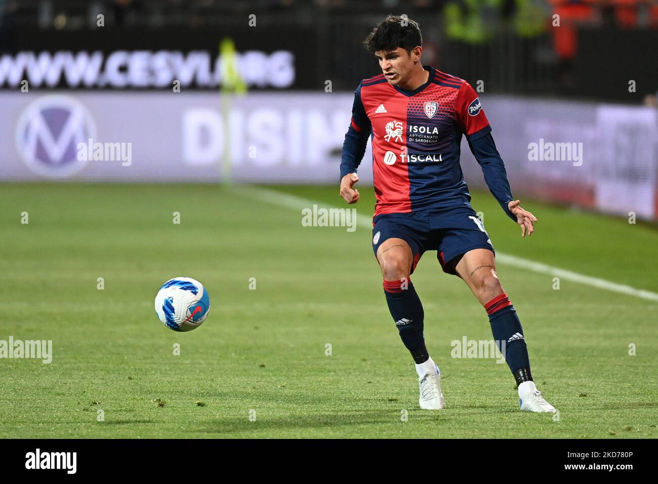
[[[169,279],[155,296],[155,312],[163,325],[174,331],[198,328],[209,310],[207,290],[190,277]]]

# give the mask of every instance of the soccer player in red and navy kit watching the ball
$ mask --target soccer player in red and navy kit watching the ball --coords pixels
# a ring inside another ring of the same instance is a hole
[[[443,271],[461,277],[484,306],[493,338],[517,382],[520,410],[556,412],[532,380],[519,317],[496,276],[492,242],[470,206],[459,165],[465,135],[495,199],[521,226],[522,237],[532,235],[537,219],[512,197],[478,95],[465,80],[420,63],[420,28],[409,18],[388,16],[364,45],[383,73],[364,79],[355,90],[340,195],[347,203],[359,201],[353,186],[370,136],[377,198],[372,249],[393,321],[416,363],[420,408],[443,408],[443,394],[410,276],[420,256],[436,250]]]

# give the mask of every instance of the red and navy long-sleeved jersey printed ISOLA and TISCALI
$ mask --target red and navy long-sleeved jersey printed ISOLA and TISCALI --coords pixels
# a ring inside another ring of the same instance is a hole
[[[516,220],[507,209],[513,200],[507,174],[478,94],[463,79],[424,68],[429,70],[428,81],[412,92],[391,86],[384,74],[359,84],[343,144],[341,178],[357,170],[370,136],[375,217],[470,207],[459,165],[465,135],[493,195]]]

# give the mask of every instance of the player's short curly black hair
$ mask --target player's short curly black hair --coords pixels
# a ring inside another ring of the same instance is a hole
[[[372,29],[363,46],[370,53],[376,51],[394,51],[402,47],[411,54],[417,45],[422,45],[422,36],[417,22],[407,16],[389,15]]]

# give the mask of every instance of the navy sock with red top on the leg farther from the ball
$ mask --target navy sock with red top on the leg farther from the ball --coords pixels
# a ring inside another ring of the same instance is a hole
[[[501,352],[503,352],[501,341],[505,342],[505,361],[511,369],[517,385],[524,381],[532,381],[530,358],[528,358],[528,348],[523,336],[521,321],[519,321],[517,311],[512,306],[507,294],[503,292],[503,294],[495,296],[484,305],[484,309],[489,315],[493,339]]]

